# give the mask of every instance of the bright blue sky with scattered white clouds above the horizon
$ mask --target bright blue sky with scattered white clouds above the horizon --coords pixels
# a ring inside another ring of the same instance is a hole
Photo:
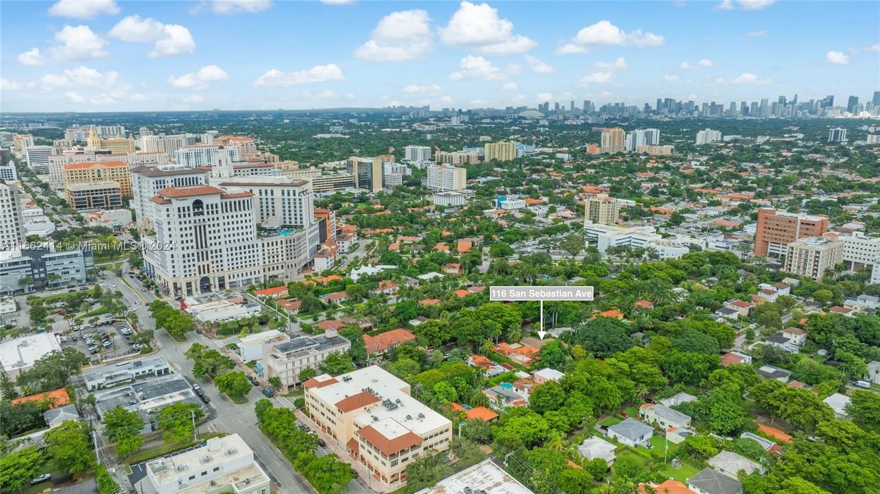
[[[0,4],[0,111],[505,107],[880,90],[880,3]]]

